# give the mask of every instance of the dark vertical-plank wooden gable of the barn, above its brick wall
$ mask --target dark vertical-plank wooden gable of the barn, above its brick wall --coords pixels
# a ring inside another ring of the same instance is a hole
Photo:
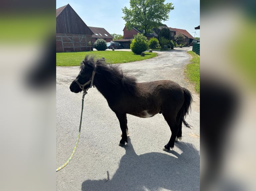
[[[70,6],[66,7],[56,18],[56,33],[93,34]]]

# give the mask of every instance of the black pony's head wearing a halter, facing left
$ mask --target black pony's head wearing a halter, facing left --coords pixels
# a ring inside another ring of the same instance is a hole
[[[80,72],[76,79],[70,85],[70,91],[79,93],[90,88],[93,71],[95,71],[94,57],[86,56],[80,64]]]

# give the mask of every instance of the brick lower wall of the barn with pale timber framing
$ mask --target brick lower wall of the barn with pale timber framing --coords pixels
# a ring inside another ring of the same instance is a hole
[[[92,35],[56,33],[56,52],[90,51],[93,50],[92,41]]]

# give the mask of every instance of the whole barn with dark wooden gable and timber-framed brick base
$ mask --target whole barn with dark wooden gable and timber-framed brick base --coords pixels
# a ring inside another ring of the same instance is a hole
[[[56,52],[93,50],[93,34],[69,4],[56,9]]]

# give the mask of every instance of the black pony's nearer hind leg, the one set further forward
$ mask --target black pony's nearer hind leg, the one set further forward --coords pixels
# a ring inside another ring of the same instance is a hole
[[[164,145],[163,150],[169,151],[170,148],[173,149],[173,147],[174,147],[174,141],[177,136],[179,128],[178,128],[178,124],[176,123],[176,118],[173,116],[173,114],[163,113],[163,116],[171,130],[170,140],[166,145]]]

